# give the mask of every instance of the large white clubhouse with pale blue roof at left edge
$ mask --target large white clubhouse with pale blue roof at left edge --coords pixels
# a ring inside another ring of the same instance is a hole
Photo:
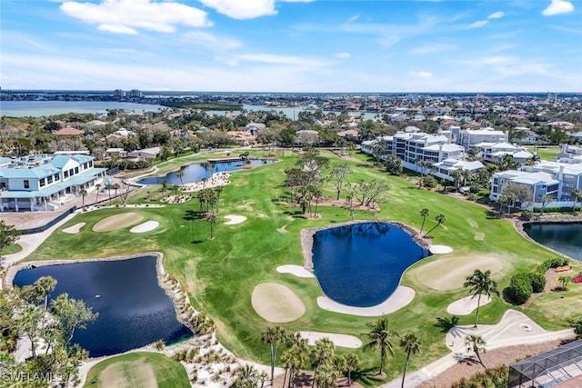
[[[105,168],[87,154],[0,157],[0,211],[55,210],[82,189],[103,184]]]

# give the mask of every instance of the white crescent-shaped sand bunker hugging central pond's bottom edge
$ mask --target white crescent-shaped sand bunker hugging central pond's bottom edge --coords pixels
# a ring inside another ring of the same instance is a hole
[[[386,313],[394,313],[400,310],[406,304],[412,302],[416,292],[410,287],[399,285],[396,291],[390,295],[386,301],[371,307],[353,307],[346,304],[337,303],[327,296],[317,298],[317,304],[324,310],[333,311],[334,313],[346,313],[358,316],[378,316]]]

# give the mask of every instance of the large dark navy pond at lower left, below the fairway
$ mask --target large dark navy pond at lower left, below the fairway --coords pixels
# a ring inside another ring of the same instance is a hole
[[[19,271],[14,284],[33,284],[41,276],[57,281],[49,301],[68,293],[99,313],[95,323],[76,330],[72,340],[91,357],[122,353],[159,339],[176,343],[192,336],[177,321],[174,303],[157,283],[156,256],[46,265]]]

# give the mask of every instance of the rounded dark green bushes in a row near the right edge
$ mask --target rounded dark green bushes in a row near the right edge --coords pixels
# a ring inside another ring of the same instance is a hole
[[[556,257],[554,259],[546,260],[539,264],[536,272],[519,272],[511,277],[509,286],[504,290],[504,293],[509,299],[510,303],[523,304],[531,296],[531,293],[541,293],[546,287],[545,273],[550,268],[557,268],[562,265],[567,265],[567,259]]]

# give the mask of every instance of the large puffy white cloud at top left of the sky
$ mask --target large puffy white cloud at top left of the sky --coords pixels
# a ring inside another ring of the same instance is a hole
[[[135,35],[138,29],[172,33],[176,31],[176,25],[212,25],[206,12],[176,2],[102,0],[99,4],[93,4],[65,1],[60,9],[87,24],[98,25],[101,31],[115,34]]]

